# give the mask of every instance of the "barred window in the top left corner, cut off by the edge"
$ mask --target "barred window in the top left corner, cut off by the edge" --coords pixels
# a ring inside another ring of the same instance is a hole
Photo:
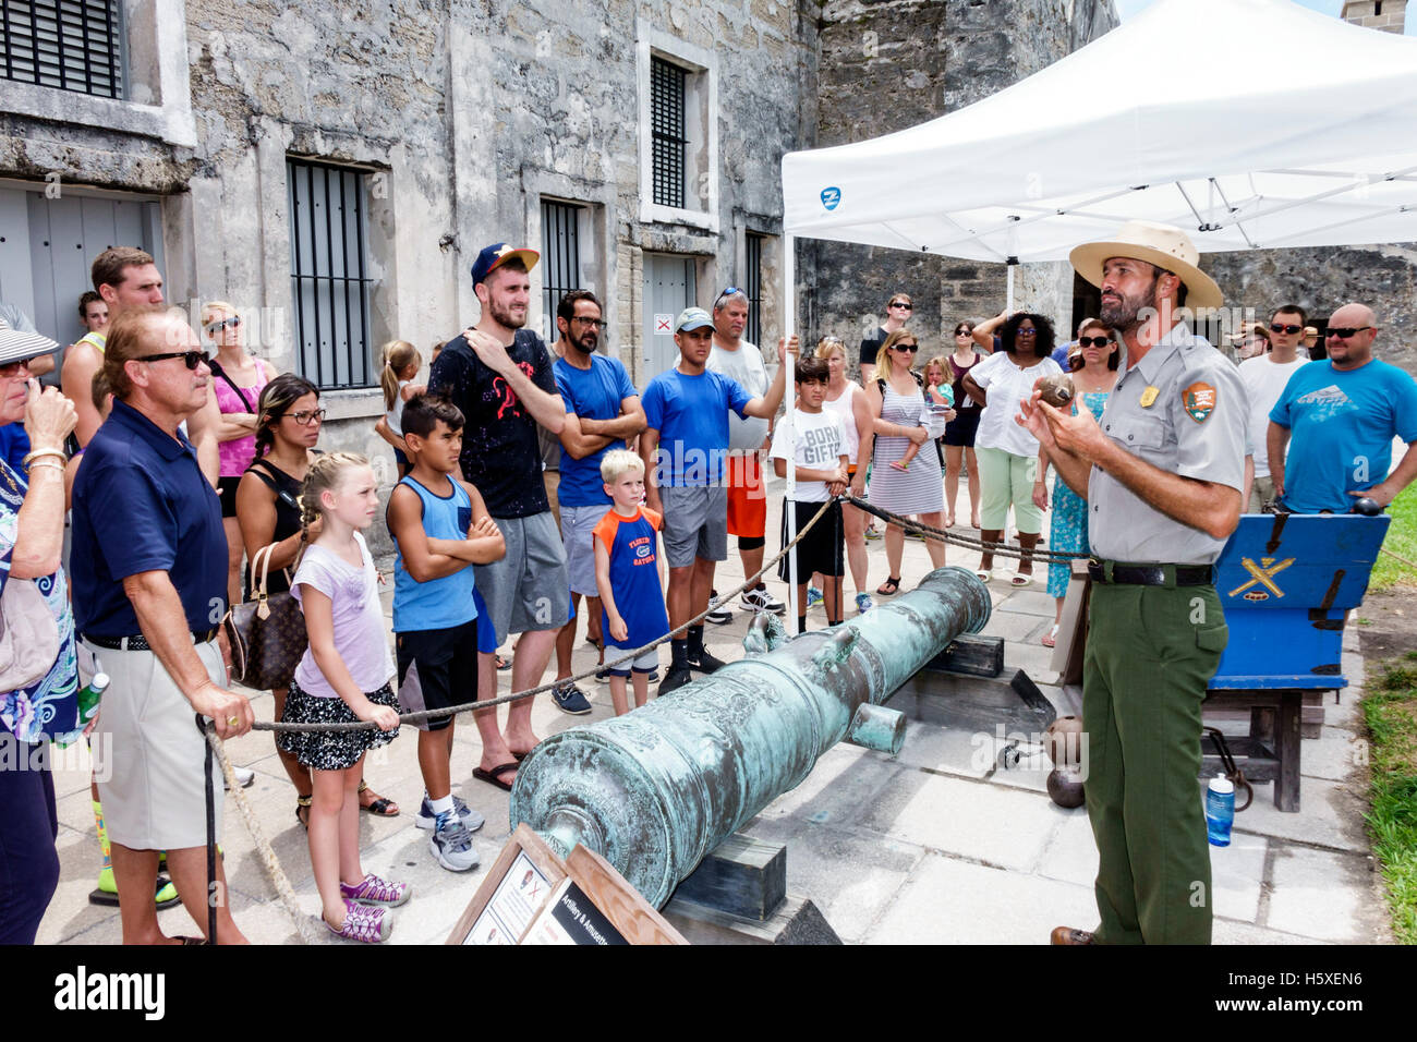
[[[0,0],[0,75],[122,98],[122,7],[119,0]]]

